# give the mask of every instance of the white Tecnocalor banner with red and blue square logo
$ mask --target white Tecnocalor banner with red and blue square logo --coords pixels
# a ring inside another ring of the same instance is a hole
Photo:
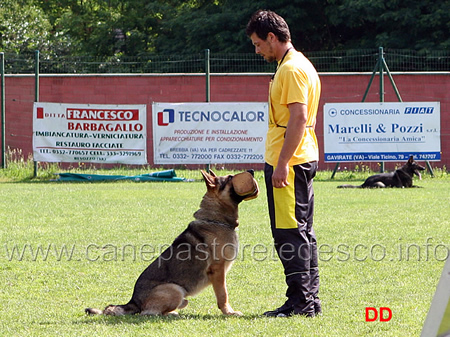
[[[153,103],[155,164],[263,163],[267,103]]]

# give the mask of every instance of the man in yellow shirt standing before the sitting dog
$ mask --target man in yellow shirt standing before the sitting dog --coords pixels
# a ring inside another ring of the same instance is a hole
[[[285,20],[259,10],[247,24],[255,52],[278,62],[269,88],[265,180],[275,248],[283,264],[287,301],[265,316],[321,313],[313,178],[319,159],[315,134],[320,79],[311,62],[291,43]]]

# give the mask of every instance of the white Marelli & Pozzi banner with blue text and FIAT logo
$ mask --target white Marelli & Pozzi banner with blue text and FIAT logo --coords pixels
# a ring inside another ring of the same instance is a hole
[[[325,162],[439,161],[439,102],[324,105]]]

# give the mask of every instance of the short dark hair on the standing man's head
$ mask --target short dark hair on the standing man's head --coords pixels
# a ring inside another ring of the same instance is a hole
[[[256,11],[250,18],[245,33],[247,36],[256,33],[262,40],[266,40],[269,33],[275,34],[280,42],[289,42],[291,40],[291,33],[286,21],[272,11]]]

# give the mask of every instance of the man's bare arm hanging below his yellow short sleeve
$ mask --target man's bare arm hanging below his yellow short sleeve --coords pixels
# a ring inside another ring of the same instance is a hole
[[[287,178],[289,174],[289,160],[295,153],[306,130],[308,109],[305,104],[292,103],[288,105],[290,118],[286,128],[283,148],[280,152],[277,167],[272,175],[273,187],[281,188],[289,185]]]

